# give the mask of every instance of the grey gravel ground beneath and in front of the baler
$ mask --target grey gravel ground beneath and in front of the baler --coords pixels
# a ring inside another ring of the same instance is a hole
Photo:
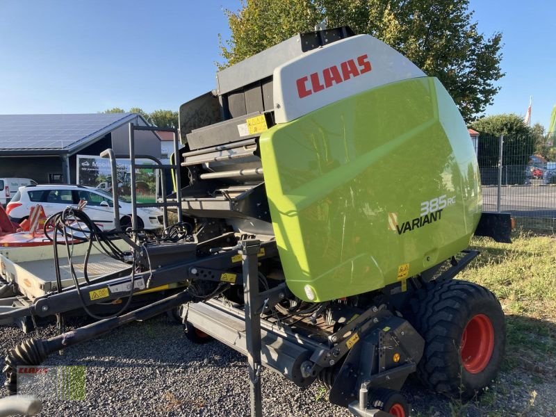
[[[0,327],[0,332],[3,352],[28,338],[15,328]],[[40,337],[54,332],[44,327]],[[44,365],[85,365],[87,395],[84,401],[44,401],[40,416],[249,415],[245,358],[218,342],[190,343],[181,326],[166,316],[70,347]],[[299,389],[269,370],[263,371],[262,381],[265,417],[350,416],[327,402],[318,382]],[[469,404],[446,400],[412,381],[403,392],[412,416],[556,416],[554,375],[523,370],[502,373],[486,395]]]

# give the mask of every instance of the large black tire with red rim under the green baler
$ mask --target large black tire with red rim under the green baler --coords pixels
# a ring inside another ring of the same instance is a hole
[[[411,300],[408,319],[425,338],[417,375],[427,388],[468,400],[498,375],[506,322],[486,288],[457,279],[432,281]]]

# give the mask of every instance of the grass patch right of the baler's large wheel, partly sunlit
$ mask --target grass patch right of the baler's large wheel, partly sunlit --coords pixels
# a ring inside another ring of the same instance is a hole
[[[507,317],[503,369],[550,377],[556,366],[556,236],[516,232],[512,244],[473,238],[480,256],[459,278],[489,288]]]

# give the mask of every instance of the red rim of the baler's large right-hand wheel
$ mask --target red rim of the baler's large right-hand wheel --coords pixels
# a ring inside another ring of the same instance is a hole
[[[489,364],[494,350],[494,328],[484,314],[473,316],[461,335],[461,363],[468,373],[480,373]]]

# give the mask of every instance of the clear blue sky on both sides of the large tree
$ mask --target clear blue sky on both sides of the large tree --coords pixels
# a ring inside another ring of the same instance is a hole
[[[0,0],[0,113],[177,110],[215,85],[223,8],[239,0]],[[502,31],[502,90],[487,114],[548,125],[556,104],[556,1],[471,0]]]

